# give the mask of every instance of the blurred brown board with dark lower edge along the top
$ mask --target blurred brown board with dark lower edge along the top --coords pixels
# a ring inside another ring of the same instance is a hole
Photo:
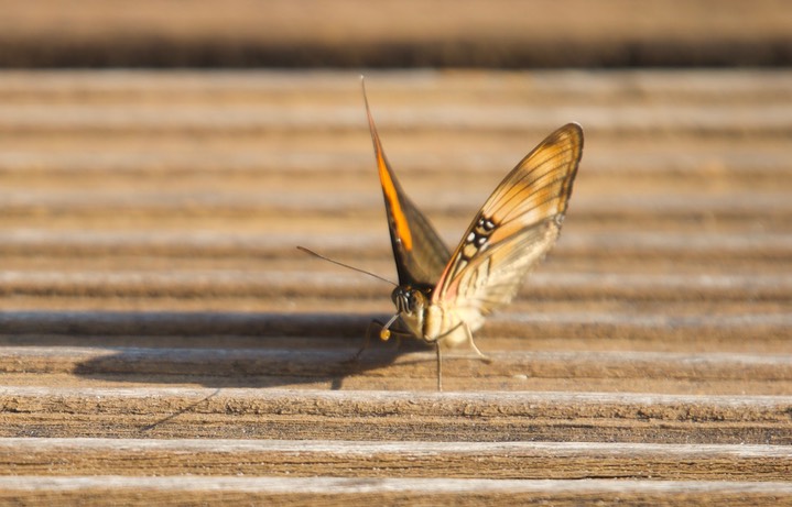
[[[1,67],[789,66],[784,0],[0,0]]]

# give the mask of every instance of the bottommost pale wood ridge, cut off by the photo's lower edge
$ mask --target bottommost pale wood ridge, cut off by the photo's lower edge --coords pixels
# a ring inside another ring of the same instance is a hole
[[[519,481],[344,477],[0,477],[0,498],[28,504],[106,505],[273,503],[280,505],[790,505],[789,483],[673,481]]]

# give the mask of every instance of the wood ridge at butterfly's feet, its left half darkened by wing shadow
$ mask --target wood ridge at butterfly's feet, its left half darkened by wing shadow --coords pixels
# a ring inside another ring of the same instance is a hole
[[[332,346],[333,344],[330,344]],[[337,345],[336,345],[337,346]],[[334,350],[335,349],[335,350]],[[295,351],[283,343],[258,349],[73,348],[6,346],[1,373],[53,373],[100,375],[177,376],[293,376],[344,377],[347,375],[432,377],[432,352],[397,354],[370,351],[350,364],[356,349],[334,348]],[[389,357],[390,355],[390,357]],[[688,382],[752,381],[792,382],[792,355],[681,352],[496,352],[492,363],[448,354],[447,374],[455,377],[509,377],[564,379],[666,379]],[[507,386],[503,386],[506,388]]]

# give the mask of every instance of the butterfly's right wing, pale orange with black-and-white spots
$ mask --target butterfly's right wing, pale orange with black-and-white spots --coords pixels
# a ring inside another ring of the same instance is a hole
[[[550,134],[501,181],[467,229],[432,301],[473,329],[509,302],[561,231],[583,153],[583,130]]]

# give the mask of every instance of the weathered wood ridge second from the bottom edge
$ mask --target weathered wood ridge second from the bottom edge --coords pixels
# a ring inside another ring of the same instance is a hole
[[[57,466],[53,466],[53,464]],[[789,445],[0,439],[0,474],[784,482]]]

